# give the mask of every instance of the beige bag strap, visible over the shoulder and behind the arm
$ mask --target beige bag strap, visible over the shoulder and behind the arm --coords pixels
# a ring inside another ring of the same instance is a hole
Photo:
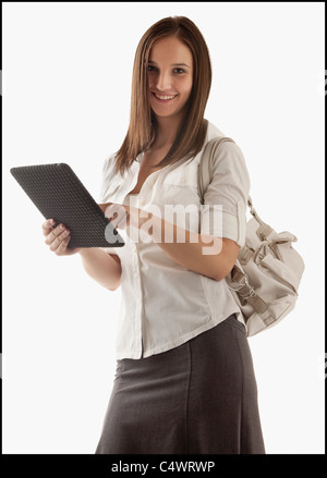
[[[199,164],[198,164],[198,176],[197,176],[197,179],[198,179],[198,193],[199,193],[202,204],[204,204],[205,192],[214,177],[213,163],[214,163],[215,154],[216,154],[219,145],[223,142],[235,143],[232,138],[227,137],[227,136],[216,137],[216,138],[210,139],[206,144],[204,151],[202,154]],[[256,210],[253,207],[253,203],[252,203],[252,199],[250,196],[247,198],[247,206],[249,206],[251,215],[257,220],[257,222],[263,228],[267,226],[267,228],[271,229],[268,224],[266,224],[258,217]]]

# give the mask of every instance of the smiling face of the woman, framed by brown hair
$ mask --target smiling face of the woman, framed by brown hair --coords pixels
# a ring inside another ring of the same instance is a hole
[[[157,40],[148,61],[149,105],[157,117],[182,115],[193,84],[190,48],[177,37]]]

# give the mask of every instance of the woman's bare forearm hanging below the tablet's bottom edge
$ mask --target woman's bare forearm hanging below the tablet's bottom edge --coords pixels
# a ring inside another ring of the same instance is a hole
[[[92,279],[109,291],[119,287],[121,265],[118,256],[110,256],[100,248],[83,248],[78,254],[85,271]]]

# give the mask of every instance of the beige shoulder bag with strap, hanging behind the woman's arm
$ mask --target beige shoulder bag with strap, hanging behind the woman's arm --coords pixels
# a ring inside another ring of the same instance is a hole
[[[198,192],[204,193],[213,180],[215,152],[228,137],[214,138],[206,145],[198,167]],[[233,142],[234,143],[234,142]],[[277,233],[266,224],[253,208],[246,223],[245,245],[226,278],[237,304],[242,310],[247,335],[266,330],[283,319],[295,306],[304,262],[292,247],[296,237],[290,232]]]

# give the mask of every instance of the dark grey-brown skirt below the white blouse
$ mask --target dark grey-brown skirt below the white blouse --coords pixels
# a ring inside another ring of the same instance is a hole
[[[117,360],[96,454],[265,454],[244,326],[234,315],[170,351]]]

